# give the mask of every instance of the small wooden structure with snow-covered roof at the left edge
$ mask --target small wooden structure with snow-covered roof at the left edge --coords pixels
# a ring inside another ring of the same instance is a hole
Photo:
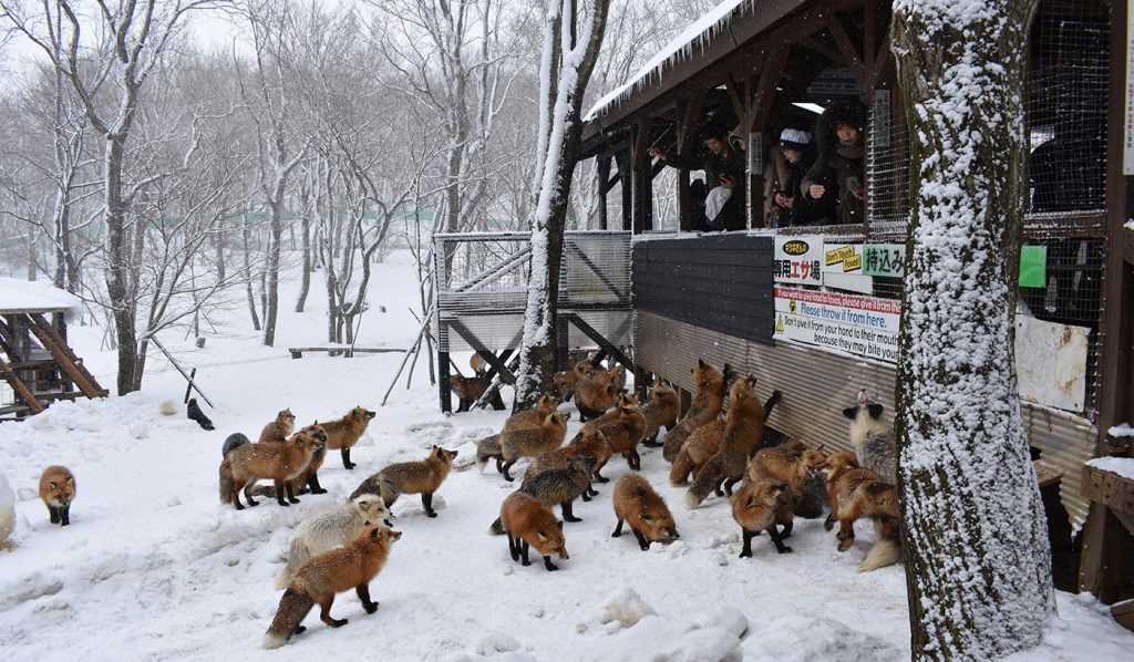
[[[0,421],[39,414],[57,400],[104,398],[107,390],[67,345],[78,299],[51,286],[0,278]]]

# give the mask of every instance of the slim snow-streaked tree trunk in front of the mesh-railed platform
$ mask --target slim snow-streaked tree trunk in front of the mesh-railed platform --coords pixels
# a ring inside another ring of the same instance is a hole
[[[602,45],[609,0],[548,0],[540,65],[540,194],[532,219],[532,278],[516,375],[517,410],[550,385],[564,226],[583,130],[579,107]],[[543,133],[547,131],[545,136]]]

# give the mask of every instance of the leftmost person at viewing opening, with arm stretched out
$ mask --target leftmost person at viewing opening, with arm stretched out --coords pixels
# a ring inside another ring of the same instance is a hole
[[[701,139],[706,153],[700,158],[668,154],[658,147],[650,147],[650,155],[671,168],[705,171],[705,181],[695,180],[689,186],[694,230],[744,230],[748,224],[744,210],[744,152],[730,144],[728,129],[718,122],[706,124]]]

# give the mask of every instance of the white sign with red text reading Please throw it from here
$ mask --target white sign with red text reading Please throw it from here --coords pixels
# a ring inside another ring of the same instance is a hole
[[[785,287],[775,292],[775,339],[897,363],[902,317],[897,299]]]

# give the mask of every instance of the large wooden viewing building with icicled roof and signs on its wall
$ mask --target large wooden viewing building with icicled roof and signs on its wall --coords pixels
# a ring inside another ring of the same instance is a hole
[[[772,426],[828,448],[846,444],[840,411],[860,389],[892,411],[889,330],[900,314],[909,155],[889,23],[883,1],[722,3],[599,101],[584,129],[602,198],[595,222],[633,232],[635,363],[686,391],[697,358],[730,363],[760,388],[784,391]],[[1081,479],[1085,461],[1109,452],[1107,431],[1134,416],[1126,26],[1125,2],[1039,2],[1025,103],[1030,272],[1021,274],[1017,315],[1027,433],[1041,461],[1063,474],[1068,515],[1051,523],[1055,544],[1070,545],[1091,514],[1082,583],[1108,601],[1119,597],[1129,536],[1084,496]],[[765,229],[765,175],[780,130],[805,128],[809,108],[844,102],[865,114],[864,218]],[[747,142],[746,231],[689,231],[696,175],[649,153],[695,154],[710,121]],[[803,311],[841,320],[820,324]]]

